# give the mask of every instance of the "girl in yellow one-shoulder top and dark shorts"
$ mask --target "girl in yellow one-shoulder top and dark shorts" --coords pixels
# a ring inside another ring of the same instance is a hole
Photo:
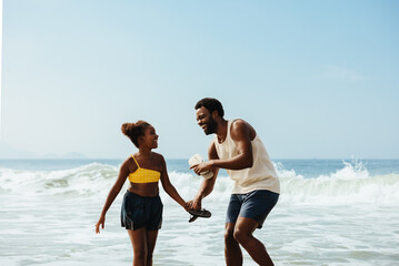
[[[96,233],[100,233],[100,226],[103,229],[106,213],[126,178],[129,178],[130,186],[123,196],[121,224],[128,231],[133,246],[133,266],[151,266],[158,231],[162,225],[163,205],[159,197],[158,181],[161,181],[163,190],[182,207],[186,202],[170,183],[163,156],[151,151],[158,147],[158,135],[153,126],[144,121],[124,123],[122,132],[139,151],[121,165],[96,224]]]

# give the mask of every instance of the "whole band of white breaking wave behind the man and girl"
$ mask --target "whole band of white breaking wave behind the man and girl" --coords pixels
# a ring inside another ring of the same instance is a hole
[[[280,183],[280,204],[398,205],[399,174],[370,175],[361,163],[346,163],[329,175],[306,177],[295,170],[276,165]],[[0,168],[0,194],[106,196],[118,176],[118,167],[92,163],[62,171],[16,171]],[[188,172],[169,172],[178,192],[189,198],[196,195],[202,178]],[[226,198],[232,181],[218,176],[211,201]],[[128,186],[126,183],[121,193]],[[162,191],[162,188],[161,188]]]

